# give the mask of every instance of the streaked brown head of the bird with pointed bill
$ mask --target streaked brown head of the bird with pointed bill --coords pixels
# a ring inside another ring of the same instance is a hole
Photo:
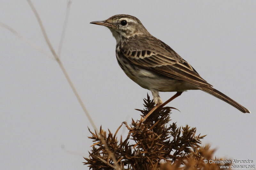
[[[116,42],[135,36],[149,34],[140,20],[131,15],[114,15],[104,21],[93,21],[90,24],[104,25],[110,29]]]

